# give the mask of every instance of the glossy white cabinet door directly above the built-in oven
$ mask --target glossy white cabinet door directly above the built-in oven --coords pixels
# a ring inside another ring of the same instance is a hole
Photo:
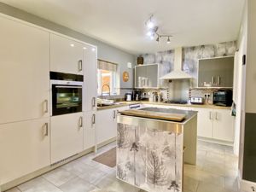
[[[83,74],[83,44],[50,34],[50,71]]]

